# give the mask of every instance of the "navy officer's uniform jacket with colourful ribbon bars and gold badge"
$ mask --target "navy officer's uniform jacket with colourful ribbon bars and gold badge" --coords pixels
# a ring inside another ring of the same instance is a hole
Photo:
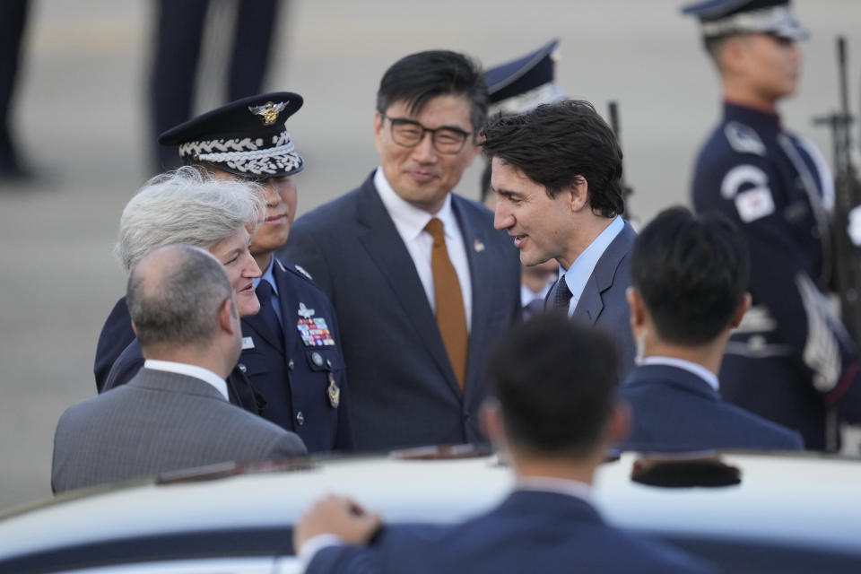
[[[263,417],[296,432],[309,452],[352,449],[335,309],[309,274],[272,261],[284,345],[263,317],[243,317],[239,369],[265,397]]]

